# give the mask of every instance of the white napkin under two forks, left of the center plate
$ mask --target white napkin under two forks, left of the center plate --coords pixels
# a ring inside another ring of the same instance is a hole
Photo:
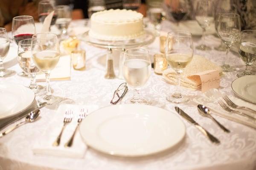
[[[87,150],[87,146],[81,139],[79,129],[76,131],[72,147],[64,147],[64,144],[70,139],[76,128],[77,119],[79,118],[81,108],[84,108],[85,111],[88,109],[88,113],[91,113],[97,110],[98,106],[61,104],[57,110],[57,113],[55,113],[52,122],[50,122],[50,124],[47,125],[47,129],[41,135],[42,138],[38,139],[37,142],[35,142],[32,149],[33,153],[68,158],[83,158],[84,153]],[[74,113],[73,119],[69,124],[66,125],[62,133],[60,145],[58,147],[54,147],[52,146],[52,143],[55,141],[58,134],[61,132],[65,112],[70,109],[73,110]],[[86,117],[84,119],[86,119]]]

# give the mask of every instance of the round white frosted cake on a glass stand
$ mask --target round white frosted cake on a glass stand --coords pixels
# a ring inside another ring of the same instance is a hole
[[[144,34],[143,15],[126,9],[94,13],[89,36],[99,40],[131,40]]]

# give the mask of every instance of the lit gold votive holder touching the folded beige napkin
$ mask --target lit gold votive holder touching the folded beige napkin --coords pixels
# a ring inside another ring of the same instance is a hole
[[[163,71],[167,68],[168,63],[164,54],[154,54],[154,72],[156,74],[163,74]]]

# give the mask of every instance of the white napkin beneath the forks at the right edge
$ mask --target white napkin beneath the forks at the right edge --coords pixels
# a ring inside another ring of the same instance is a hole
[[[201,96],[196,96],[193,101],[201,104],[201,105],[206,105],[213,114],[216,114],[218,116],[224,117],[226,119],[230,119],[232,121],[241,123],[243,125],[247,125],[253,128],[256,128],[256,120],[247,118],[245,116],[241,116],[236,113],[230,113],[225,111],[224,109],[221,108],[221,106],[218,104],[218,99],[222,99],[222,96],[224,96],[224,92],[219,91],[218,89],[210,89],[209,91],[205,92]],[[239,106],[245,106],[248,108],[251,108],[256,111],[256,105],[253,105],[252,103],[245,102],[244,100],[241,100],[239,98],[236,98],[231,95],[227,95],[232,102],[234,102],[236,105]],[[222,99],[223,100],[223,99]],[[224,101],[224,100],[223,100]],[[247,111],[243,111],[244,113],[247,113],[250,116],[253,116],[256,118],[255,113],[250,113]]]

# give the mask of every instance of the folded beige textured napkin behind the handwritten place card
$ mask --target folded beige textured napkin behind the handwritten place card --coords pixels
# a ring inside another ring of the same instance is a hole
[[[192,61],[183,70],[180,85],[191,90],[201,88],[201,79],[199,77],[193,77],[192,75],[208,70],[218,70],[219,74],[222,74],[221,67],[202,56],[194,55]],[[172,68],[168,68],[163,71],[163,79],[170,84],[176,85],[177,74]]]

